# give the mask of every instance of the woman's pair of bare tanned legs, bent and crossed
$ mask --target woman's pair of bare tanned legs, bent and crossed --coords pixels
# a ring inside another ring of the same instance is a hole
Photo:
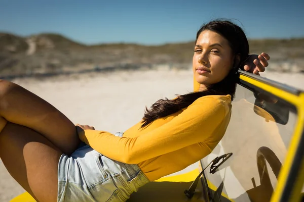
[[[0,80],[0,158],[39,201],[57,200],[57,168],[80,140],[73,123],[39,96]]]

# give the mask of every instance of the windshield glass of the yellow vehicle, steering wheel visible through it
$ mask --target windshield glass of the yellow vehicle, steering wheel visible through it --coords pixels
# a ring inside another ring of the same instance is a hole
[[[233,155],[214,174],[206,169],[208,186],[223,184],[220,201],[269,201],[295,127],[295,108],[274,95],[240,85],[232,105],[226,133],[203,159],[203,166],[220,155]]]

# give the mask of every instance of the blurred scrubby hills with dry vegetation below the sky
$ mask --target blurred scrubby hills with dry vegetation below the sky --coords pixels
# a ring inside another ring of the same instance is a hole
[[[304,72],[304,38],[250,40],[250,52],[267,52],[270,70]],[[84,45],[59,34],[19,37],[0,33],[0,77],[83,71],[189,68],[194,41],[164,45],[129,43]]]

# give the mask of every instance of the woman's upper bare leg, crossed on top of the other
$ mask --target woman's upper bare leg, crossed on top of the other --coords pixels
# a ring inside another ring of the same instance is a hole
[[[5,80],[0,80],[1,117],[35,130],[67,155],[80,142],[74,124],[61,112],[39,96]],[[2,128],[0,123],[0,132]]]

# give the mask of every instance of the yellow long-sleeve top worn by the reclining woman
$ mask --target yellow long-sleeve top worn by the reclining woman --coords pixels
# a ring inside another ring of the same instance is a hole
[[[110,159],[137,164],[154,181],[210,154],[224,135],[230,116],[230,95],[208,95],[143,129],[140,121],[123,137],[96,130],[84,130],[79,137]]]

